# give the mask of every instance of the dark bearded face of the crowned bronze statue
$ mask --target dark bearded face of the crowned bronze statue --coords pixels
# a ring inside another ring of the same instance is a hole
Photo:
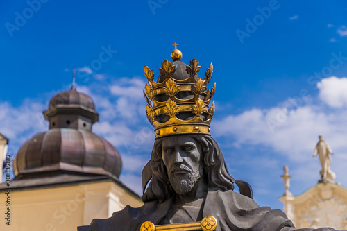
[[[164,139],[162,160],[167,167],[170,184],[177,194],[192,191],[203,174],[201,146],[192,138],[172,136]]]

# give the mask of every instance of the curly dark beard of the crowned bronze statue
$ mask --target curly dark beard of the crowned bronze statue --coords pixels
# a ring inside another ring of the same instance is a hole
[[[188,170],[186,166],[181,166],[181,169]],[[187,174],[170,174],[170,183],[172,188],[176,191],[176,194],[187,194],[192,191],[193,187],[200,179],[201,174],[199,171],[193,172],[189,169]]]

